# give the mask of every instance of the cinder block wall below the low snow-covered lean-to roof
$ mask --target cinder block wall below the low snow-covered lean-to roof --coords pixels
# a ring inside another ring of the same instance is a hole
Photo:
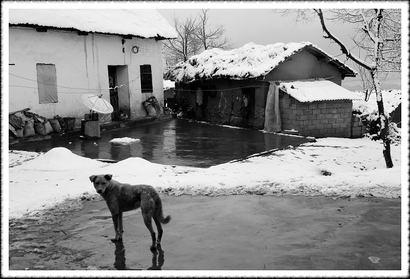
[[[352,100],[299,102],[279,94],[282,130],[296,130],[301,136],[348,138],[352,128]]]

